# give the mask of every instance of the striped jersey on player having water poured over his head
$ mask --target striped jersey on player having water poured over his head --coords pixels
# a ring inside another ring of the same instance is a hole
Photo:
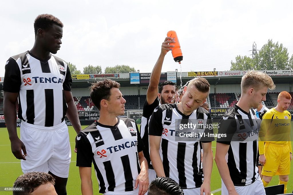
[[[188,128],[187,124],[195,126]],[[176,104],[156,107],[150,118],[149,135],[161,136],[159,153],[165,175],[174,179],[183,189],[202,185],[200,141],[214,141],[213,136],[208,136],[213,134],[211,125],[211,116],[207,110],[199,107],[186,116],[178,110]],[[191,133],[194,135],[192,138],[184,136]]]

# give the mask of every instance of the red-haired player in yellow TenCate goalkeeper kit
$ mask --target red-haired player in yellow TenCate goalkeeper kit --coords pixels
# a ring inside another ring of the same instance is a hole
[[[279,175],[279,184],[285,185],[285,194],[292,160],[291,113],[287,111],[291,102],[290,93],[282,91],[277,101],[277,106],[263,116],[259,133],[259,161],[263,165],[263,185],[268,186],[272,176]]]

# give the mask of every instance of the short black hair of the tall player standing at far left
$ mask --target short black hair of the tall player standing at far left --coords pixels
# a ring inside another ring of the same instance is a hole
[[[37,35],[38,29],[41,28],[44,30],[48,30],[52,27],[53,24],[56,24],[63,28],[63,23],[55,16],[47,13],[38,15],[34,23],[35,35]]]

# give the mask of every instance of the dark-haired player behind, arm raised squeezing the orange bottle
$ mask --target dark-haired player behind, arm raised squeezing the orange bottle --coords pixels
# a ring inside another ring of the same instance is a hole
[[[145,145],[145,148],[143,150],[144,156],[149,164],[149,182],[156,178],[156,172],[154,171],[153,165],[151,165],[151,159],[149,157],[149,118],[151,117],[151,114],[158,105],[173,104],[176,99],[176,86],[175,83],[171,81],[164,81],[163,83],[161,83],[158,91],[163,61],[167,52],[172,50],[173,46],[168,45],[172,42],[175,41],[173,41],[171,37],[166,37],[165,41],[162,43],[159,59],[157,60],[154,69],[151,72],[149,87],[147,89],[147,98],[144,102],[142,113],[140,133]]]

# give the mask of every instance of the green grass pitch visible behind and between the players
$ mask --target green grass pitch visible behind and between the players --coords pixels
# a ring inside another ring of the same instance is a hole
[[[86,126],[82,126],[84,129]],[[67,182],[67,194],[77,195],[81,194],[80,188],[80,177],[79,177],[79,170],[78,167],[75,166],[76,164],[76,153],[73,152],[74,150],[74,138],[76,133],[72,126],[68,127],[69,129],[69,136],[70,136],[70,144],[71,144],[71,164],[69,169],[69,178]],[[217,129],[214,129],[214,133],[217,132]],[[19,128],[18,128],[18,136],[19,136]],[[8,139],[8,132],[6,128],[0,128],[0,187],[12,187],[15,179],[22,174],[20,160],[16,159],[13,154],[11,153],[10,148],[10,141]],[[215,147],[216,142],[212,143],[212,150],[213,154],[215,155]],[[293,163],[291,163],[291,174],[289,175],[289,183],[287,186],[287,193],[292,192],[293,190]],[[93,180],[93,190],[94,194],[98,195],[98,182],[96,180],[96,176],[94,170],[92,169],[92,180]],[[278,176],[273,177],[272,181],[270,182],[271,185],[277,185],[279,182]],[[211,191],[217,191],[217,189],[221,188],[221,177],[219,175],[216,163],[213,164],[212,170],[212,177],[211,177]],[[12,192],[0,192],[0,194],[12,194]],[[221,194],[221,191],[215,192],[214,195]]]

